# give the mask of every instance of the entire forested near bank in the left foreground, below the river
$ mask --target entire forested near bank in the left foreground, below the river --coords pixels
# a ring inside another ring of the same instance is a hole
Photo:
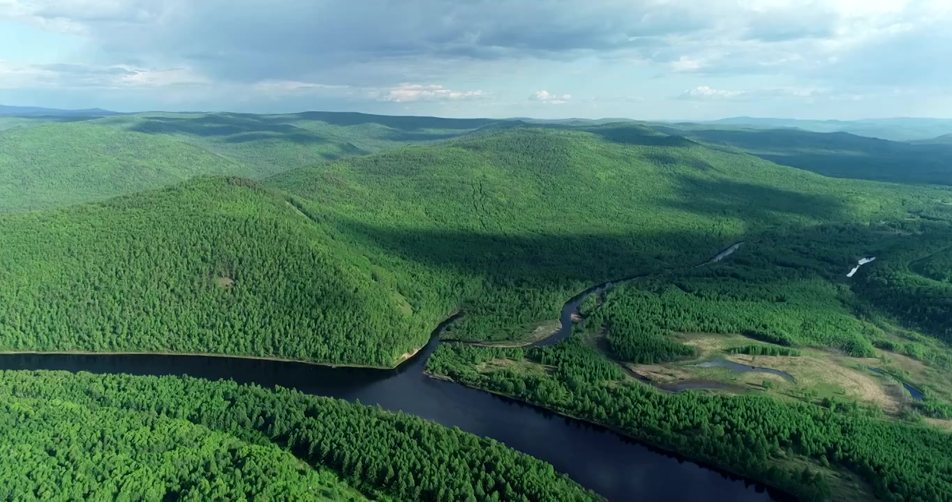
[[[491,439],[288,389],[8,371],[0,403],[9,499],[363,498],[347,484],[384,500],[598,499]]]

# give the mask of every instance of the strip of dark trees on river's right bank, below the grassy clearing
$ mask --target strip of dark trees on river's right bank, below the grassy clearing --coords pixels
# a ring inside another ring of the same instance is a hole
[[[817,469],[788,467],[797,465],[787,462],[794,455],[857,473],[883,500],[952,499],[952,443],[938,430],[870,417],[833,401],[833,409],[827,409],[770,396],[665,393],[623,379],[617,366],[578,340],[526,352],[528,360],[556,364],[554,372],[504,367],[482,374],[472,360],[501,356],[480,354],[482,350],[441,345],[427,361],[428,369],[617,428],[804,500],[829,496],[832,481]]]

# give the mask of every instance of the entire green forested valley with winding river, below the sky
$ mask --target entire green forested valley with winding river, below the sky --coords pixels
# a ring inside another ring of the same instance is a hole
[[[40,435],[69,414],[149,434],[178,420],[184,445],[273,459],[284,471],[260,475],[293,479],[276,498],[952,496],[949,189],[662,129],[316,113],[11,126],[5,405],[49,416],[29,422]],[[286,398],[298,408],[270,411]],[[327,407],[352,429],[316,428]],[[441,439],[388,471],[381,452],[430,437],[384,432],[409,423]],[[391,442],[351,452],[339,434]],[[450,467],[426,464],[437,450]]]

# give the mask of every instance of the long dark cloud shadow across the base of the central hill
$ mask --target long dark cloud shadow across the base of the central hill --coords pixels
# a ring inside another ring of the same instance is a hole
[[[730,238],[690,232],[514,235],[353,221],[338,225],[348,236],[405,259],[527,289],[540,283],[597,283],[654,273],[674,261],[696,265],[730,243]]]

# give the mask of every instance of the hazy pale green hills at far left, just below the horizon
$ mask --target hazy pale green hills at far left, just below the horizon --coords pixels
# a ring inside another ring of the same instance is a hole
[[[197,175],[264,178],[446,139],[491,122],[325,112],[143,113],[26,125],[40,120],[0,117],[0,129],[7,128],[0,130],[0,212],[102,201]]]

